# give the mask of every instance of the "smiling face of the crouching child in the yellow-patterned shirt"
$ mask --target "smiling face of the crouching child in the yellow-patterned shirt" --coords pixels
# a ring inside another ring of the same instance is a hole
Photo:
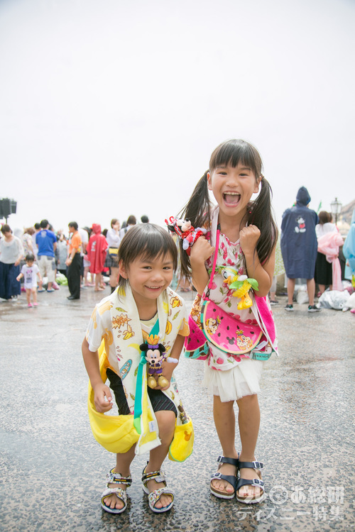
[[[119,265],[119,274],[129,280],[136,305],[147,304],[158,299],[173,280],[173,257],[170,254],[146,259],[142,255],[133,260],[129,266]]]

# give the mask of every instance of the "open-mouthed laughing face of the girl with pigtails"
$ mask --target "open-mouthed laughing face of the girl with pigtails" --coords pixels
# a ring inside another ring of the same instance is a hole
[[[236,167],[222,165],[207,174],[209,190],[226,216],[243,218],[251,196],[258,192],[260,177],[256,179],[250,167],[239,163]]]

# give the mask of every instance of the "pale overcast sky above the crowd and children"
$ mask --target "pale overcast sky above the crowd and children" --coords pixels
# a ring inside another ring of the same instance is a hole
[[[0,1],[0,197],[12,228],[163,225],[244,138],[278,222],[355,197],[351,0]]]

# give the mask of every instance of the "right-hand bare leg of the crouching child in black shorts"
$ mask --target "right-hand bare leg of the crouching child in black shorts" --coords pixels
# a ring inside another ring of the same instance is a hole
[[[168,455],[170,443],[173,441],[175,430],[175,414],[173,411],[162,410],[155,412],[155,417],[158,421],[159,438],[161,445],[155,447],[149,453],[149,462],[146,466],[146,472],[151,473],[153,471],[159,471],[166,456]],[[155,482],[154,479],[147,482],[147,487],[150,492],[154,492],[155,489],[164,487],[163,482]],[[163,494],[155,503],[155,508],[163,508],[168,506],[172,501],[170,495]]]

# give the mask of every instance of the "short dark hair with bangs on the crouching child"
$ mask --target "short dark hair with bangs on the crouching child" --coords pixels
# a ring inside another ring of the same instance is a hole
[[[129,265],[137,257],[151,260],[160,256],[171,255],[173,268],[178,266],[178,249],[168,231],[154,223],[140,223],[132,227],[124,235],[119,245],[118,261],[122,261],[129,269]],[[124,286],[127,279],[119,277],[119,285]]]

